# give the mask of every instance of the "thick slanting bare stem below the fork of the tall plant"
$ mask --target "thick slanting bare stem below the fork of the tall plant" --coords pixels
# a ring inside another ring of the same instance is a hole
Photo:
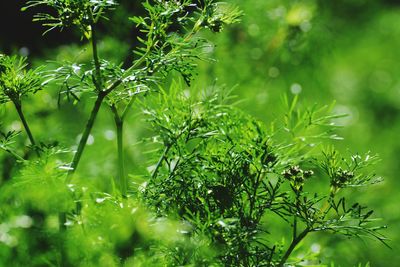
[[[89,138],[90,132],[92,131],[94,121],[96,120],[97,113],[100,110],[101,103],[103,102],[105,96],[106,95],[104,93],[102,93],[102,92],[100,92],[98,94],[98,96],[97,96],[97,99],[96,99],[96,102],[94,103],[94,107],[92,109],[92,112],[90,113],[90,117],[89,117],[89,119],[88,119],[88,121],[86,123],[85,130],[84,130],[84,132],[82,134],[81,140],[79,141],[78,149],[77,149],[77,151],[76,151],[76,153],[74,155],[74,158],[72,160],[72,163],[71,163],[71,166],[70,166],[71,169],[68,171],[68,176],[67,176],[67,180],[66,180],[67,183],[69,183],[71,181],[71,178],[72,178],[71,175],[75,172],[76,168],[78,167],[79,161],[81,159],[83,150],[85,149],[85,146],[86,146],[87,140]]]

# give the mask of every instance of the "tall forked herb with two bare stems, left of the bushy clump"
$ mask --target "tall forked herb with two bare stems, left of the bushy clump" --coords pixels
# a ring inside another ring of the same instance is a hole
[[[226,8],[225,3],[214,1],[146,1],[143,6],[147,15],[131,18],[143,33],[143,36],[138,36],[141,46],[134,50],[138,58],[127,69],[122,69],[120,65],[100,58],[97,48],[97,24],[105,17],[105,12],[116,6],[116,2],[38,0],[29,1],[26,8],[40,5],[53,8],[57,15],[38,14],[34,20],[43,22],[44,26],[50,27],[49,30],[77,27],[81,37],[88,39],[92,46],[92,68],[82,71],[82,65],[72,63],[49,75],[50,80],[61,79],[66,85],[65,93],[74,98],[83,90],[96,95],[96,102],[72,160],[67,181],[70,181],[71,174],[78,167],[97,113],[106,99],[114,114],[117,129],[117,184],[121,194],[126,196],[127,180],[122,151],[123,122],[136,96],[149,91],[150,84],[172,70],[178,71],[190,82],[195,67],[194,59],[200,58],[202,53],[202,45],[199,45],[202,41],[196,38],[196,33],[203,28],[220,31],[222,25],[236,22],[240,12]],[[225,8],[221,9],[220,6]]]

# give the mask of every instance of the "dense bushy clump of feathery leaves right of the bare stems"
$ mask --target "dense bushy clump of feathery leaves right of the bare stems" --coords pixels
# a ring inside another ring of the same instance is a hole
[[[159,149],[142,197],[160,216],[178,214],[195,233],[209,236],[220,248],[222,265],[284,266],[315,232],[369,236],[386,244],[372,211],[340,195],[380,180],[366,170],[376,157],[321,153],[319,142],[338,138],[331,122],[340,116],[326,114],[329,107],[302,111],[296,97],[287,102],[285,123],[267,130],[221,92],[170,95],[145,110]],[[329,193],[309,192],[307,184],[315,179]],[[288,246],[268,237],[275,231],[268,227],[274,217],[291,229]]]

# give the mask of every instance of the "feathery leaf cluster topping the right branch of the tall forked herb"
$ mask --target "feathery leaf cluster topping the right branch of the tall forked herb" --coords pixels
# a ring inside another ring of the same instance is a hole
[[[230,6],[212,0],[145,2],[147,16],[131,18],[144,34],[138,38],[142,47],[134,53],[146,58],[149,73],[159,71],[165,76],[177,71],[189,84],[196,66],[194,60],[203,59],[203,50],[207,47],[205,40],[195,38],[196,33],[216,27],[217,21],[219,27],[232,24],[241,16],[237,8],[223,9],[221,5]]]

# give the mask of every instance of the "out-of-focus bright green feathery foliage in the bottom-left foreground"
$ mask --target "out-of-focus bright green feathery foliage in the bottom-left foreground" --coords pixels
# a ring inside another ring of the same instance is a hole
[[[4,266],[209,266],[209,241],[183,222],[156,218],[133,199],[91,184],[64,183],[57,157],[28,163],[1,188],[0,264]],[[77,205],[78,204],[78,205]],[[58,214],[71,211],[60,231]],[[179,254],[177,254],[179,252]],[[65,254],[65,255],[63,255]],[[181,257],[177,257],[181,255]]]

